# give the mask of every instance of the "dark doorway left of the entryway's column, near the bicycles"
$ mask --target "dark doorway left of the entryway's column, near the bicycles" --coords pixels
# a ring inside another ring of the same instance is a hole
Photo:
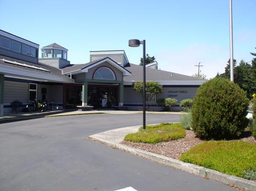
[[[81,100],[81,92],[82,92],[82,85],[80,84],[72,84],[66,85],[64,88],[65,94],[65,106],[66,108],[76,108],[77,106],[82,105]]]

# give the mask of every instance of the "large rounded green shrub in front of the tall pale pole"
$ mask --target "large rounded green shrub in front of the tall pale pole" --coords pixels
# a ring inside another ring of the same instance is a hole
[[[248,124],[247,108],[244,90],[227,79],[213,78],[194,97],[191,127],[205,139],[239,136]]]

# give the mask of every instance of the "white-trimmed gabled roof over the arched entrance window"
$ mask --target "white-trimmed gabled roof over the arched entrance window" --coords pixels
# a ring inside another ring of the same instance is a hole
[[[108,62],[108,63],[112,64],[114,67],[121,70],[124,75],[131,75],[130,71],[128,71],[126,68],[122,67],[120,64],[116,63],[109,57],[95,60],[93,62],[89,62],[86,64],[70,64],[68,67],[62,68],[61,70],[63,71],[63,74],[70,74],[70,73],[78,74],[78,73],[88,72],[89,68],[92,68],[92,67],[94,67],[98,64],[104,63],[104,62]]]

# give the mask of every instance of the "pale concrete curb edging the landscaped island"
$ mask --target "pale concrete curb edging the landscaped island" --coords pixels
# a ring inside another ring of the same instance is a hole
[[[140,126],[134,126],[134,127],[140,127]],[[129,127],[124,127],[124,128],[120,128],[120,129],[125,129],[125,128],[127,129]],[[111,133],[111,131],[114,131],[114,130],[118,130],[118,129],[113,129],[113,130],[105,131],[102,133],[106,133],[106,132]],[[91,136],[89,136],[89,139],[103,143],[103,144],[108,145],[114,149],[121,149],[123,151],[130,152],[134,155],[158,162],[160,164],[167,165],[169,167],[172,167],[172,168],[175,168],[178,170],[183,170],[183,171],[198,175],[198,176],[206,178],[206,179],[215,180],[215,181],[227,184],[234,188],[238,188],[238,189],[245,190],[245,191],[255,191],[256,190],[256,182],[254,182],[254,181],[242,179],[242,178],[239,178],[236,176],[227,175],[227,174],[224,174],[224,173],[216,171],[216,170],[211,170],[211,169],[207,169],[204,167],[196,166],[194,164],[185,163],[185,162],[182,162],[177,159],[168,158],[168,157],[158,155],[155,153],[151,153],[151,152],[147,152],[147,151],[144,151],[141,149],[134,149],[134,148],[126,146],[126,145],[115,143],[114,141],[106,140],[106,139],[104,139],[104,136],[100,135],[102,133],[91,135]]]

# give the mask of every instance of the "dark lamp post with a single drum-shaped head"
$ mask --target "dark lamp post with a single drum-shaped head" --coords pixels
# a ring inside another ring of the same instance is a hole
[[[131,39],[129,40],[129,46],[130,47],[138,47],[140,44],[143,44],[143,129],[146,129],[146,53],[145,53],[145,46],[146,41],[140,41],[137,39]]]

